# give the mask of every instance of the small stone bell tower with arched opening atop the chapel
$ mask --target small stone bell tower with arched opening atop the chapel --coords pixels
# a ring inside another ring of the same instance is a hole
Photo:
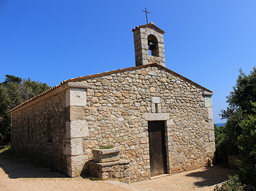
[[[136,26],[133,30],[136,66],[157,62],[165,67],[165,31],[154,22]]]

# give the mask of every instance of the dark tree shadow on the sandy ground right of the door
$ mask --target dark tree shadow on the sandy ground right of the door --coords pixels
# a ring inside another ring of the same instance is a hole
[[[202,171],[191,172],[186,174],[186,176],[198,179],[198,181],[195,181],[193,184],[201,188],[222,183],[227,180],[229,174],[235,174],[237,172],[239,172],[237,169],[231,169],[223,165],[215,165],[205,167]]]

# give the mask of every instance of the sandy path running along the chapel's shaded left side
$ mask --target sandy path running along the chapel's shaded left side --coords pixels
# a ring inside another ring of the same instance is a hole
[[[67,178],[57,172],[0,156],[0,190],[130,190],[82,178]]]

